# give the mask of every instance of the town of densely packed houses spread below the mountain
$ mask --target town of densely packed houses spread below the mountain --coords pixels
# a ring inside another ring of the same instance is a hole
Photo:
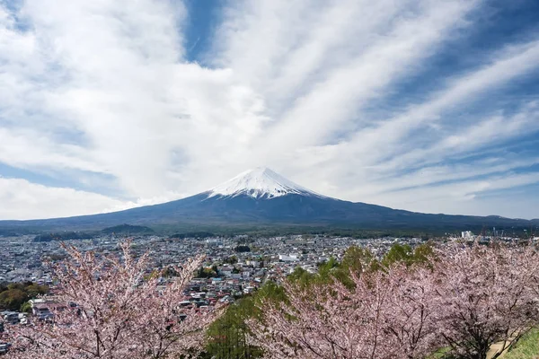
[[[355,240],[348,237],[294,235],[276,237],[236,236],[206,239],[171,239],[166,237],[140,237],[133,241],[133,252],[140,255],[149,252],[152,267],[148,272],[163,273],[164,268],[182,263],[199,254],[206,256],[200,273],[204,276],[191,280],[186,300],[181,306],[204,308],[217,302],[234,302],[243,295],[256,291],[264,281],[290,274],[296,267],[314,273],[321,262],[328,258],[341,258],[350,245],[365,246],[375,255],[382,255],[395,241],[420,242],[419,239],[384,238]],[[119,251],[118,239],[113,237],[72,241],[81,250],[94,250],[102,254]],[[241,244],[242,250],[238,250]],[[44,298],[32,299],[30,319],[26,313],[4,312],[4,320],[20,322],[28,320],[52,320],[53,312],[62,309],[54,297],[54,278],[48,267],[41,266],[45,258],[61,259],[65,252],[57,241],[34,242],[28,237],[8,238],[0,241],[0,256],[15,258],[0,260],[0,281],[34,281],[51,285],[52,293]],[[12,256],[13,257],[10,257]],[[163,285],[172,278],[162,277]]]

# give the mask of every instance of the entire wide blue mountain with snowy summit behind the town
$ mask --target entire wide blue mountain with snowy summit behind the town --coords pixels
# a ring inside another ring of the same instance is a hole
[[[331,226],[357,229],[428,231],[529,228],[527,221],[499,216],[427,215],[325,197],[275,171],[245,171],[208,191],[154,206],[101,215],[31,221],[0,221],[0,230],[87,230],[122,223],[150,226]],[[0,231],[1,233],[2,231]]]

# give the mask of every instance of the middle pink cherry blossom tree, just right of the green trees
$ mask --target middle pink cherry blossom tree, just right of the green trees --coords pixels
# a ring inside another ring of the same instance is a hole
[[[311,287],[286,283],[286,302],[263,302],[251,320],[270,358],[419,358],[437,346],[429,269],[395,265]]]

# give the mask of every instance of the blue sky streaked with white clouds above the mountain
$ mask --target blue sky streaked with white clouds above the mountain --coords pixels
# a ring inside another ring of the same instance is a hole
[[[0,219],[257,166],[352,201],[539,218],[539,3],[0,0]]]

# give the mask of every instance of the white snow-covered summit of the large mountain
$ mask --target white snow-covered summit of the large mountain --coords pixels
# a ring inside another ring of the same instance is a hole
[[[208,191],[208,198],[215,196],[236,197],[239,195],[253,198],[274,198],[288,194],[322,197],[291,180],[285,179],[269,168],[257,167],[253,170],[244,171],[234,179],[227,180],[225,183],[211,188]]]

